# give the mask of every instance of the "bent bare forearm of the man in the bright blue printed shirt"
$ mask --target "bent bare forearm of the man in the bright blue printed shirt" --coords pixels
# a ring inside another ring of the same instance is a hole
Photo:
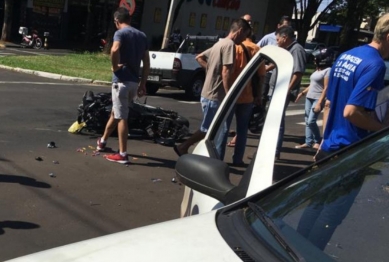
[[[365,108],[355,105],[346,105],[343,110],[343,117],[361,129],[378,131],[388,126],[388,114],[383,123],[380,123],[376,117],[372,116],[372,114],[375,115],[375,112],[366,112]]]

